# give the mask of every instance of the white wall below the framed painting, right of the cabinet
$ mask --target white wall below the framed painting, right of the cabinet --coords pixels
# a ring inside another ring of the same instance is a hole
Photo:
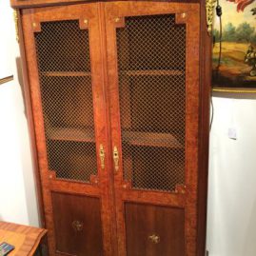
[[[256,100],[216,97],[213,106],[207,249],[210,256],[255,256]]]

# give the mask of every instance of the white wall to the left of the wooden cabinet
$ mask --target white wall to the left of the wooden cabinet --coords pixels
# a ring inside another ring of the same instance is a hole
[[[19,48],[9,0],[0,1],[0,220],[38,226],[30,139],[16,62]]]

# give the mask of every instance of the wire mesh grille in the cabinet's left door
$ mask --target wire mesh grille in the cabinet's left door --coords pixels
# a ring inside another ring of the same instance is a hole
[[[35,43],[49,169],[89,182],[97,173],[89,31],[75,20],[46,22]]]

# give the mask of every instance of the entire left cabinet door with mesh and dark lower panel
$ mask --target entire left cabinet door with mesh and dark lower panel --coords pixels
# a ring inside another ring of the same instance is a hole
[[[22,13],[50,255],[112,255],[98,9]]]

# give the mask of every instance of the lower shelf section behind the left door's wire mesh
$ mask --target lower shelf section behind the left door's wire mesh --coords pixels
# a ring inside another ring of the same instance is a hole
[[[48,139],[55,141],[95,142],[94,132],[89,128],[50,128],[48,129]]]

